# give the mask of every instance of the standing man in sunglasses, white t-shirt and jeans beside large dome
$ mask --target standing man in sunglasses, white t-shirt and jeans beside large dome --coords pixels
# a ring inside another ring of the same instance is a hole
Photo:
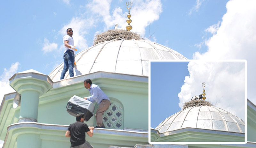
[[[75,62],[75,54],[76,46],[74,46],[74,40],[73,40],[73,30],[72,28],[67,29],[67,35],[63,37],[63,43],[65,46],[65,51],[63,54],[64,59],[64,67],[61,72],[60,80],[64,79],[66,72],[69,72],[69,76],[74,76],[74,62]]]

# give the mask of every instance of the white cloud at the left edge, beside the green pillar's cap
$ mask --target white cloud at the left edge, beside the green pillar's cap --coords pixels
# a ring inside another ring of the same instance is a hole
[[[9,79],[17,73],[20,63],[16,62],[11,65],[9,69],[4,68],[3,74],[0,76],[0,103],[3,100],[5,94],[15,92],[15,90],[10,86]]]

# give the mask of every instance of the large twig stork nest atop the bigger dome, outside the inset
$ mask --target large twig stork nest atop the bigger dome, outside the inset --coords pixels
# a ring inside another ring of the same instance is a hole
[[[95,36],[96,39],[93,40],[94,45],[99,44],[101,42],[110,41],[113,39],[121,40],[121,39],[143,39],[139,34],[127,31],[124,29],[114,29],[108,30],[107,32],[103,32]]]

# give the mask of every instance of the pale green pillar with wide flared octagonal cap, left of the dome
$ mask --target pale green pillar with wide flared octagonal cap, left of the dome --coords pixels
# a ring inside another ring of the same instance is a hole
[[[21,95],[18,122],[37,122],[39,96],[52,88],[52,80],[48,75],[30,69],[14,74],[9,81]]]

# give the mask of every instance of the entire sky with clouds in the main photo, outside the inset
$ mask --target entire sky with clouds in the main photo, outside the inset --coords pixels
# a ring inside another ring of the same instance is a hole
[[[245,59],[248,98],[256,104],[255,0],[133,0],[131,31],[188,59]],[[8,79],[35,69],[43,74],[63,62],[62,38],[73,28],[78,52],[94,36],[127,23],[124,0],[3,1],[0,6],[0,101]],[[77,53],[78,53],[77,52]],[[185,79],[185,78],[184,78]],[[184,80],[183,79],[183,80]]]

